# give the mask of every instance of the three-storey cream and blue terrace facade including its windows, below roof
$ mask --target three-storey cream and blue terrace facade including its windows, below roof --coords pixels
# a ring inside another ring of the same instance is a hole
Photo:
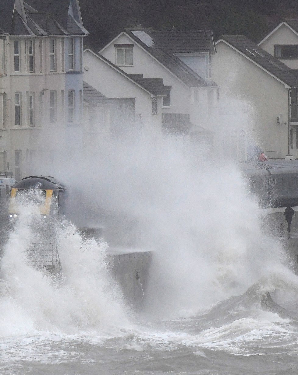
[[[81,126],[82,52],[83,35],[66,31],[0,34],[0,171],[20,180],[45,150],[59,146],[69,127]]]

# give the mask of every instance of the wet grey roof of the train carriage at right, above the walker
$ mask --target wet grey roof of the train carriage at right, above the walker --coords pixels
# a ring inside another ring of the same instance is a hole
[[[248,175],[298,174],[298,160],[268,160],[266,162],[242,163],[242,171]]]

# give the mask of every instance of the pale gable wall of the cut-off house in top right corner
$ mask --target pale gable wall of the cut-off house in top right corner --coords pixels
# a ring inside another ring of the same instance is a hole
[[[261,43],[260,47],[274,56],[275,44],[298,44],[298,35],[290,30],[286,25],[282,25],[263,43]],[[281,58],[280,61],[289,66],[291,69],[298,69],[298,58],[293,58],[290,60]]]

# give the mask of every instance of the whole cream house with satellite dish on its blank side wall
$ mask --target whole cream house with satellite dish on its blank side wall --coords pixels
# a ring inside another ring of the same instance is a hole
[[[240,112],[241,106],[249,109],[256,145],[269,157],[298,157],[298,119],[290,101],[298,87],[295,72],[244,35],[221,36],[215,45],[214,79],[221,97],[239,105]]]

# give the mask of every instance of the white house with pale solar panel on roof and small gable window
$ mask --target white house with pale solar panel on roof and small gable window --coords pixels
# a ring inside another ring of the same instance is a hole
[[[208,129],[208,112],[216,107],[218,95],[212,79],[215,52],[212,31],[140,28],[123,31],[99,51],[128,75],[163,79],[163,131],[179,133]]]

